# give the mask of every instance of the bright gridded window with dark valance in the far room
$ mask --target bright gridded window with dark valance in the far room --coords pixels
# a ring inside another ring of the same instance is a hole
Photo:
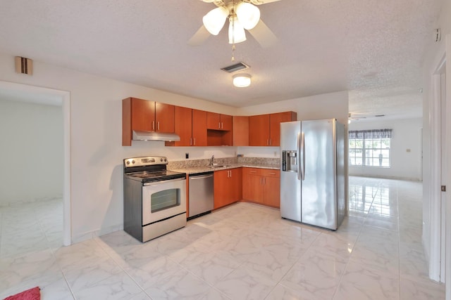
[[[392,129],[349,132],[350,166],[390,168]]]

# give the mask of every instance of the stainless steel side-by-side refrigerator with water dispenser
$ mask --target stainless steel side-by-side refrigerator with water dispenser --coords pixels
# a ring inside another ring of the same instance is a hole
[[[338,229],[345,217],[345,126],[336,119],[280,123],[280,215]]]

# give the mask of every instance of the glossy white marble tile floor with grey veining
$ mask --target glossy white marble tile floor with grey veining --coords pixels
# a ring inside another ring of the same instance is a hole
[[[0,299],[445,299],[427,277],[421,183],[350,178],[335,232],[237,203],[144,244],[123,231],[62,247],[62,203],[0,208]]]

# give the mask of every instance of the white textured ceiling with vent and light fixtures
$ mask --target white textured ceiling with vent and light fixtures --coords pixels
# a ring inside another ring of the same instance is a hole
[[[187,45],[199,0],[0,0],[0,52],[236,107],[350,90],[350,112],[421,116],[421,64],[443,0],[281,0],[259,6],[278,43],[247,34],[232,85],[227,30]],[[409,107],[405,109],[405,107]],[[395,114],[396,112],[396,114]]]

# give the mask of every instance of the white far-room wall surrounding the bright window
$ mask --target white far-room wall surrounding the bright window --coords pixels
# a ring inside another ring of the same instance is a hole
[[[421,118],[352,122],[349,130],[393,129],[393,138],[390,142],[390,168],[350,166],[350,175],[420,181],[422,126]]]

